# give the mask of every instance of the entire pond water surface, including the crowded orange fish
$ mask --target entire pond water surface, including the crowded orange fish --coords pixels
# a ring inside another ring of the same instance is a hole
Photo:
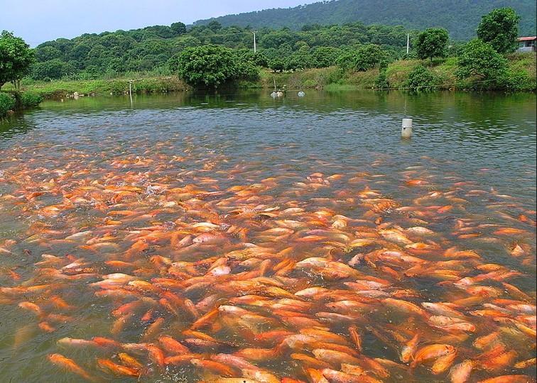
[[[0,122],[0,380],[531,382],[535,209],[534,94],[45,101]]]

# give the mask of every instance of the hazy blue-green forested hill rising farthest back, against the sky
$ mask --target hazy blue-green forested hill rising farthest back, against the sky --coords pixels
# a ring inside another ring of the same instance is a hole
[[[222,26],[299,29],[306,24],[401,25],[423,29],[444,27],[455,40],[475,35],[481,16],[492,9],[510,6],[521,15],[521,35],[536,34],[535,0],[332,0],[289,9],[266,9],[197,21],[205,25],[216,20]]]

